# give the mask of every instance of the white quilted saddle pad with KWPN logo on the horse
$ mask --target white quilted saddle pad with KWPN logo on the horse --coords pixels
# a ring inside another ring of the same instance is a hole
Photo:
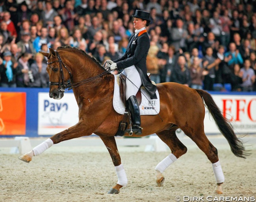
[[[117,79],[119,75],[114,75],[114,76],[115,76],[115,85],[114,85],[113,107],[117,113],[124,114],[125,107],[120,97],[119,81]],[[158,97],[158,99],[150,99],[150,96],[148,95],[148,92],[145,90],[145,88],[142,86],[140,89],[141,89],[141,104],[139,105],[139,110],[141,115],[158,114],[160,111],[160,97],[159,97],[158,90],[156,90],[156,96]]]

